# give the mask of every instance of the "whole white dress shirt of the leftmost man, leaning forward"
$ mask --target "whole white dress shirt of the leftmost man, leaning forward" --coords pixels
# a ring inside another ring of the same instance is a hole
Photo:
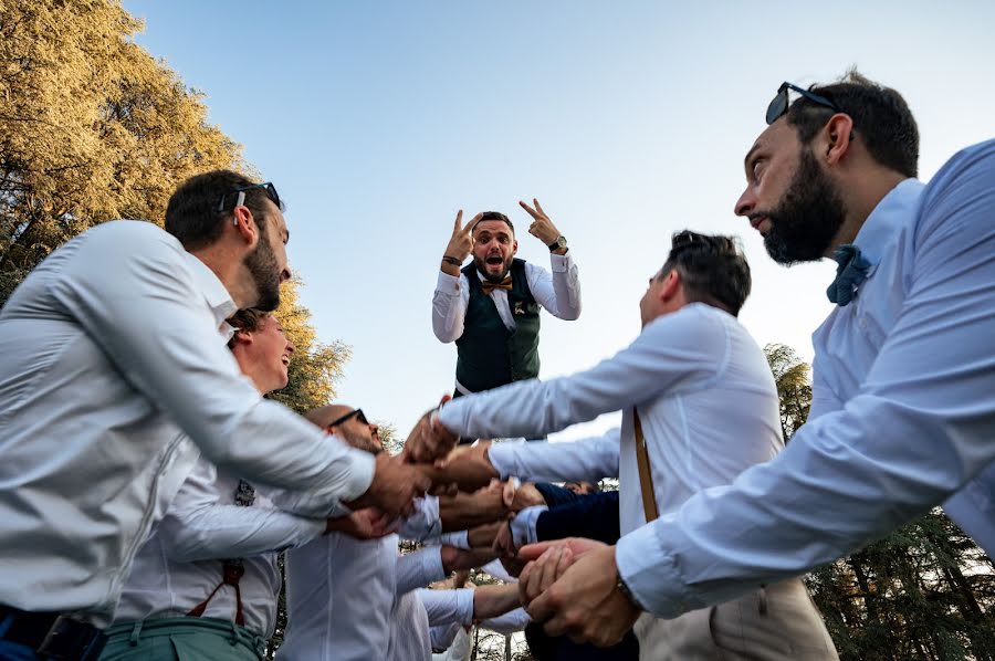
[[[0,309],[0,604],[111,620],[196,459],[337,511],[373,458],[263,400],[219,336],[234,303],[148,222],[106,222]],[[304,514],[323,514],[306,512]]]

